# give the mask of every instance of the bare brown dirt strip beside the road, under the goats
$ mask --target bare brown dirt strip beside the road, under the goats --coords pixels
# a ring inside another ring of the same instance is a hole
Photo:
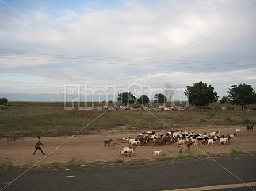
[[[227,154],[230,153],[231,149],[244,152],[256,151],[256,132],[246,132],[246,127],[218,126],[196,129],[190,128],[190,130],[196,133],[221,131],[222,135],[227,135],[234,134],[236,128],[241,128],[241,132],[238,133],[229,145],[219,146],[218,143],[215,143],[213,146],[207,146],[205,144],[198,148],[192,146],[191,154]],[[168,130],[155,131],[156,134],[165,134]],[[177,157],[180,155],[179,147],[174,146],[174,144],[158,147],[139,146],[135,150],[136,157],[133,157],[133,155],[131,155],[131,157],[121,157],[119,155],[122,147],[127,147],[128,143],[120,143],[115,149],[109,149],[104,146],[104,140],[113,139],[113,142],[116,142],[117,139],[127,137],[128,133],[132,133],[132,131],[126,130],[125,127],[119,127],[112,130],[101,130],[97,134],[78,135],[77,137],[41,137],[41,142],[44,144],[41,148],[46,155],[42,155],[41,152],[37,150],[35,156],[33,155],[33,151],[35,150],[34,147],[37,142],[37,137],[16,139],[13,144],[6,144],[5,139],[2,138],[0,139],[0,164],[11,161],[14,166],[44,165],[54,162],[67,163],[72,158],[75,158],[76,162],[83,159],[86,163],[114,162],[117,159],[124,159],[124,161],[127,162],[132,159],[155,159],[156,157],[153,157],[154,150],[162,150],[166,157]],[[182,152],[181,155],[187,155],[187,153]]]

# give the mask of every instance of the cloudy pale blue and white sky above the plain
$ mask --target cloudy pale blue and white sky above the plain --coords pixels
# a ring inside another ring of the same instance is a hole
[[[255,91],[255,10],[255,0],[0,0],[0,93],[180,94],[200,81],[219,99],[231,85]]]

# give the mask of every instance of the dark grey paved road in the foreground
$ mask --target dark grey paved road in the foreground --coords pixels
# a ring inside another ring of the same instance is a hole
[[[1,170],[0,190],[23,172]],[[3,190],[192,190],[188,188],[241,184],[241,180],[256,182],[256,156],[216,159],[216,162],[186,159],[140,165],[85,166],[70,170],[35,168]],[[221,190],[256,190],[256,183],[243,188],[227,189],[225,186]]]

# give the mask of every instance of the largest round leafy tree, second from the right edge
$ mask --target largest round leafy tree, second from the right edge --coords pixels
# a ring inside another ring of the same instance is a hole
[[[197,106],[200,111],[203,106],[208,106],[210,103],[217,102],[219,96],[214,91],[212,85],[207,86],[202,81],[194,83],[193,86],[186,87],[185,96],[188,96],[189,103]]]

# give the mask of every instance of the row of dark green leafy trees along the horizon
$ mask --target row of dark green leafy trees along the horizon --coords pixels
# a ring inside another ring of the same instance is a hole
[[[217,102],[219,98],[217,92],[214,91],[214,87],[212,85],[208,86],[207,83],[202,83],[202,81],[186,88],[184,94],[188,97],[188,102],[200,110],[204,106],[209,106],[209,104]],[[227,93],[228,96],[221,98],[221,104],[238,105],[241,106],[241,110],[245,110],[247,105],[256,103],[256,93],[251,85],[245,83],[232,85],[231,88],[228,88]],[[165,104],[167,102],[166,96],[162,93],[155,94],[154,98],[154,103]],[[131,92],[125,91],[118,94],[117,101],[125,106],[135,103],[143,104],[144,106],[150,103],[150,98],[147,95],[141,95],[139,98],[136,98]]]

